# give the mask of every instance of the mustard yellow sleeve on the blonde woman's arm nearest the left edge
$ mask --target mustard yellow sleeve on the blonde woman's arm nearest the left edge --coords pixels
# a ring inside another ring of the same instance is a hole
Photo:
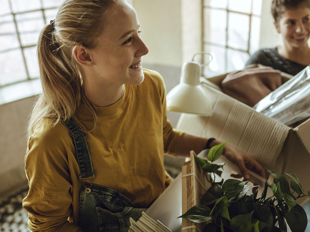
[[[28,140],[25,170],[29,193],[23,200],[28,211],[28,227],[32,231],[69,231],[79,229],[70,223],[72,185],[65,146],[57,136],[36,136]]]

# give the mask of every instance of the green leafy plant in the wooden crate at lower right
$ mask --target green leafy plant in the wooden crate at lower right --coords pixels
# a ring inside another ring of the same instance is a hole
[[[225,163],[214,164],[214,161],[222,154],[225,143],[212,147],[207,160],[195,156],[211,187],[202,196],[201,204],[193,206],[180,217],[196,223],[210,221],[203,232],[283,232],[287,231],[286,222],[292,232],[304,231],[307,215],[296,204],[296,199],[309,197],[310,191],[308,195],[304,193],[294,173],[286,173],[291,177],[289,184],[284,174],[267,170],[274,179],[271,185],[265,181],[261,196],[258,196],[258,190],[246,195],[255,187],[246,185],[247,182],[237,179],[215,182],[215,174],[221,176],[220,169]],[[267,197],[268,188],[273,193],[270,197]]]

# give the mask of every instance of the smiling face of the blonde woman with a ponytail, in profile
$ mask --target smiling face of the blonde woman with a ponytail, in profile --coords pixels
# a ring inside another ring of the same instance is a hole
[[[91,57],[98,84],[139,85],[144,80],[141,60],[148,47],[139,36],[139,28],[131,5],[116,5],[107,11],[107,21]]]

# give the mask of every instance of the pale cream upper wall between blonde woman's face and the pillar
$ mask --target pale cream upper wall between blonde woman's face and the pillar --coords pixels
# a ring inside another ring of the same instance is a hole
[[[181,0],[132,0],[149,48],[143,63],[181,67]]]

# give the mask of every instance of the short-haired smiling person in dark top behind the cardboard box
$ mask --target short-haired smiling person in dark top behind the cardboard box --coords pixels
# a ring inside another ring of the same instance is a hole
[[[260,63],[296,75],[310,64],[310,0],[273,0],[271,12],[283,46],[258,50],[246,66]]]

